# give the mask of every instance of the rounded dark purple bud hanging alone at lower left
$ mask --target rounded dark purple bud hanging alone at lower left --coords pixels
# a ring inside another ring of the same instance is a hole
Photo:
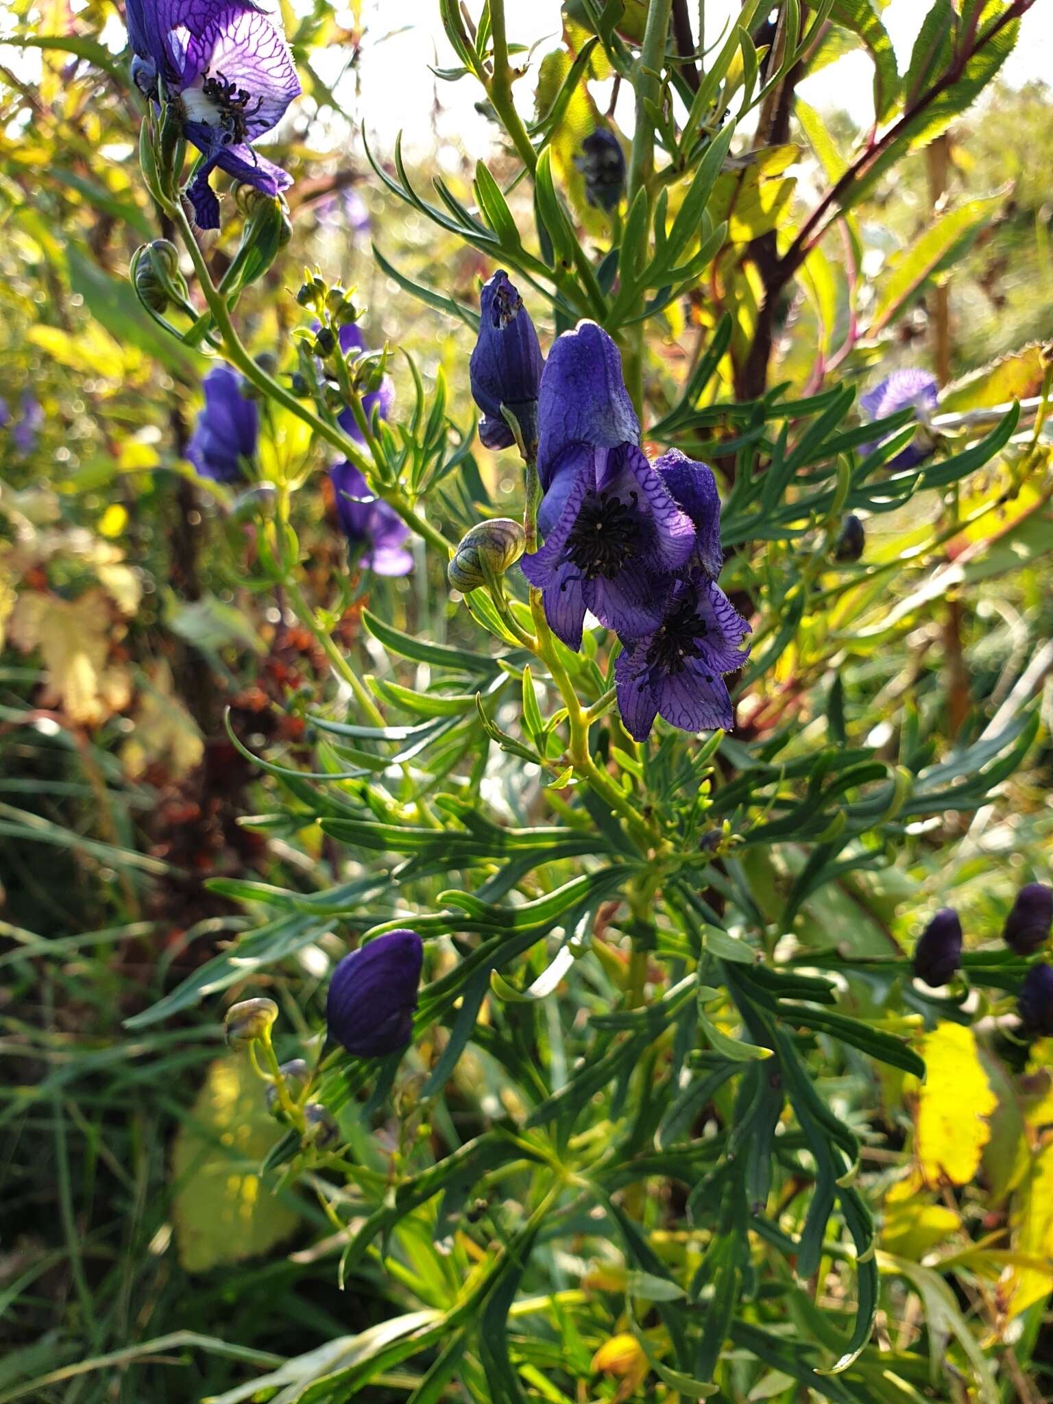
[[[406,1047],[423,962],[416,931],[389,931],[344,956],[329,986],[329,1036],[357,1057],[383,1057]]]

